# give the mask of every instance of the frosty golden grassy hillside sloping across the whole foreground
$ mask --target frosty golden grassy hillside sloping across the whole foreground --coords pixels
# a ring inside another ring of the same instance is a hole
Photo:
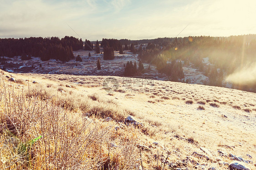
[[[254,93],[122,77],[109,93],[107,76],[0,74],[3,170],[225,170],[229,154],[255,168]]]

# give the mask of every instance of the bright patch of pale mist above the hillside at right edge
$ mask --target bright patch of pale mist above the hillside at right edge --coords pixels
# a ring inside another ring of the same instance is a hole
[[[227,76],[226,81],[236,85],[252,85],[256,83],[256,62],[236,70],[234,73]]]

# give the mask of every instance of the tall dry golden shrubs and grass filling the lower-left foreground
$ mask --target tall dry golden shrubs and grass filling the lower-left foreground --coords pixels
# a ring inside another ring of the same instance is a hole
[[[134,169],[138,165],[135,132],[124,132],[130,136],[119,137],[118,148],[110,149],[106,141],[116,134],[111,126],[92,124],[81,112],[71,112],[57,104],[69,100],[72,105],[79,105],[76,97],[66,94],[47,98],[50,92],[41,88],[17,93],[12,86],[5,90],[2,87],[0,80],[1,169],[101,169],[106,162],[102,155],[118,169]],[[81,100],[82,96],[77,98]],[[109,111],[113,117],[123,119],[122,110],[114,104],[97,106],[99,112]]]

